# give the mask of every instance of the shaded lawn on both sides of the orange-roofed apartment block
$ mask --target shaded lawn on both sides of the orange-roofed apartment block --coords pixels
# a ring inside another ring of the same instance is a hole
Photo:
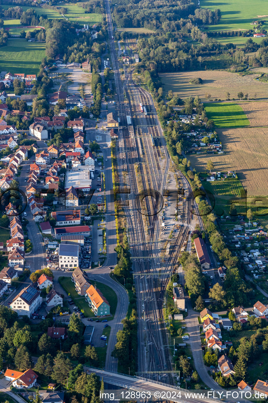
[[[59,284],[66,291],[66,293],[70,294],[70,297],[73,299],[75,305],[78,306],[78,308],[80,308],[81,310],[84,310],[84,315],[86,317],[94,317],[94,313],[88,306],[88,303],[85,301],[85,297],[81,297],[80,295],[78,295],[74,283],[72,282],[70,277],[59,277]],[[102,283],[94,282],[94,285],[95,284],[109,302],[111,315],[114,315],[117,307],[117,295],[115,291]],[[113,316],[107,317],[107,320],[112,319]]]

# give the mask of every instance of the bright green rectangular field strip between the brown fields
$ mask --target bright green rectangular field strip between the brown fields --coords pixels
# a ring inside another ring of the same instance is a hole
[[[205,106],[207,117],[213,119],[216,127],[245,127],[250,121],[241,106],[235,103],[211,103]]]

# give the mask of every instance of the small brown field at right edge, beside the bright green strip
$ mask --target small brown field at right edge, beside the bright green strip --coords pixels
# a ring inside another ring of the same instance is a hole
[[[266,101],[250,101],[237,104],[241,106],[247,115],[251,126],[263,127],[268,126],[268,102]]]

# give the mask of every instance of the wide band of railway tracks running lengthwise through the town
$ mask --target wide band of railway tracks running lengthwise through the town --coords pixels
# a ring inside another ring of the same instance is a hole
[[[136,276],[135,278],[138,311],[138,368],[141,372],[170,370],[168,349],[164,349],[163,347],[168,343],[161,299],[168,283],[168,278],[165,274],[173,271],[178,248],[181,247],[186,239],[188,228],[186,226],[181,227],[178,233],[176,233],[176,239],[174,240],[174,245],[172,245],[168,261],[164,266],[164,274],[160,277],[161,284],[159,286],[159,279],[156,277],[147,278],[147,274],[157,274],[158,266],[160,266],[158,210],[161,206],[162,195],[166,187],[170,157],[163,140],[162,129],[151,95],[132,82],[131,73],[127,75],[123,84],[121,82],[108,0],[105,0],[105,3],[110,52],[119,98],[117,112],[122,125],[119,133],[119,142],[117,143],[119,180],[123,187],[127,174],[127,187],[129,187],[130,192],[127,195],[122,194],[121,199],[124,204],[124,214],[128,222],[129,244],[132,245],[133,274],[141,274],[140,277]],[[124,88],[127,104],[125,103]],[[141,116],[139,111],[140,103],[150,106],[151,114]],[[129,114],[129,111],[131,111],[133,125],[141,137],[134,136],[131,139],[126,120],[126,115]],[[158,139],[159,145],[154,145],[152,138]],[[163,169],[162,166],[160,167],[160,158],[162,157],[160,154],[160,145],[164,154],[164,159],[161,161],[162,165],[164,162]],[[147,197],[144,197],[143,203],[140,197],[138,197],[139,181],[135,165],[139,166],[139,178],[143,194],[147,192]],[[186,200],[184,205],[184,216],[187,217],[187,224],[190,222],[190,200],[191,196],[190,192],[188,192],[188,200]],[[142,214],[143,210],[147,214],[145,220]],[[148,225],[148,233],[145,231],[145,222]],[[146,275],[142,276],[143,273]],[[153,378],[153,375],[147,374],[146,376]],[[168,378],[166,380],[172,383],[172,378],[169,375]]]

